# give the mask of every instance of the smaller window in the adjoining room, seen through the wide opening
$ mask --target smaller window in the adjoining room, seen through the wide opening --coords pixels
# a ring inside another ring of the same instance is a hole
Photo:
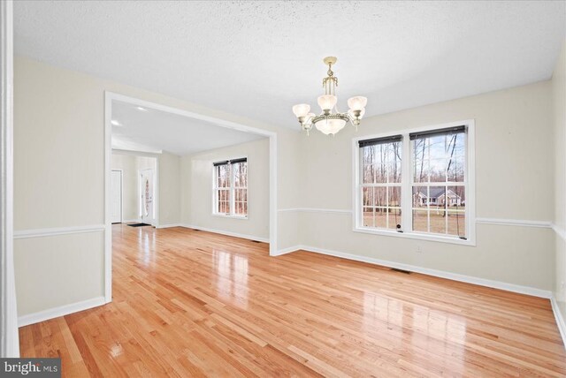
[[[215,215],[248,217],[248,159],[214,163]]]

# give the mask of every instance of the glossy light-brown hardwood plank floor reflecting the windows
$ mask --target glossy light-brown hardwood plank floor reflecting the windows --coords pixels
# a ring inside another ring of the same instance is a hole
[[[566,375],[547,299],[183,228],[114,225],[113,251],[113,302],[21,328],[22,356],[80,377]]]

